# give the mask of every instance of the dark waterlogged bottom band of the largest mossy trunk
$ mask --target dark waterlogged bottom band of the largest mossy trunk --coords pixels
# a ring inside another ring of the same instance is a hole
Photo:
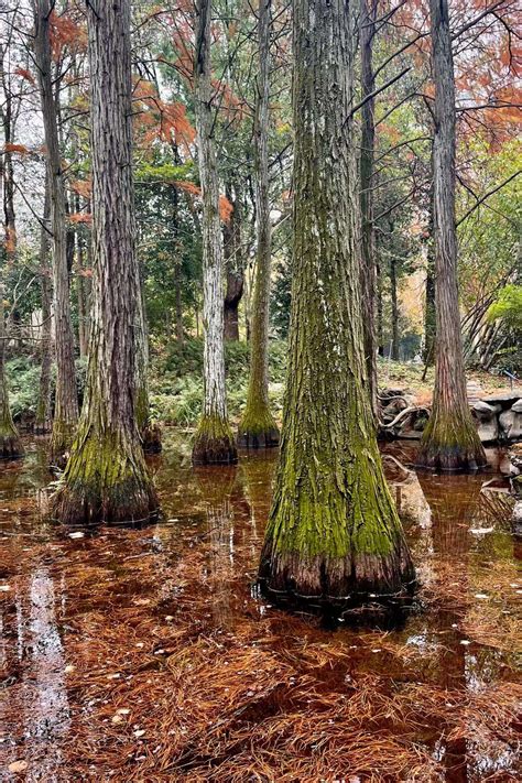
[[[342,610],[411,596],[415,570],[402,539],[385,555],[352,553],[346,557],[278,552],[269,541],[261,555],[259,580],[261,588],[275,598]]]

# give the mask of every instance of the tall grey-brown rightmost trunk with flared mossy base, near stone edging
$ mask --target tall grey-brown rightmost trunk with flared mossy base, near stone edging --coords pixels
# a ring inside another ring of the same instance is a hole
[[[429,0],[435,81],[434,220],[436,352],[433,410],[418,464],[447,470],[486,465],[471,418],[463,359],[455,228],[455,76],[447,0]]]

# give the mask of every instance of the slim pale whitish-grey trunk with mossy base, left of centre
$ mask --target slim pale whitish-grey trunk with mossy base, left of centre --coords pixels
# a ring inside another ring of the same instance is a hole
[[[213,138],[210,81],[210,0],[196,2],[194,93],[199,180],[203,192],[204,410],[193,461],[233,463],[237,449],[228,423],[225,389],[222,239],[219,181]]]

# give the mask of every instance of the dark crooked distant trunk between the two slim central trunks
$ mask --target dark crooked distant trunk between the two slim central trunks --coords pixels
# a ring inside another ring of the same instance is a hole
[[[226,340],[239,340],[239,303],[244,289],[241,263],[241,200],[237,189],[227,187],[226,196],[233,206],[230,220],[224,227],[224,255],[227,276],[224,309]]]

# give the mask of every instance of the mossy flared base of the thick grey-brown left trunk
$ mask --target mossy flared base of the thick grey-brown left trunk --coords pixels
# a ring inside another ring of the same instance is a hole
[[[79,433],[50,516],[63,524],[137,524],[159,513],[138,438]]]

